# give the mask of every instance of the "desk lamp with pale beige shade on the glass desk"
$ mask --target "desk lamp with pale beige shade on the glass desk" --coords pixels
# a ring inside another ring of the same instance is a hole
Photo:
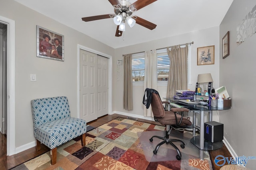
[[[211,88],[212,88],[212,75],[211,73],[205,73],[205,74],[198,74],[198,80],[196,83],[196,86],[198,88],[198,84],[204,83],[204,90],[202,92],[205,92],[204,95],[208,96],[211,93]],[[208,84],[208,89],[206,88],[206,83]],[[196,89],[197,92],[197,89]]]

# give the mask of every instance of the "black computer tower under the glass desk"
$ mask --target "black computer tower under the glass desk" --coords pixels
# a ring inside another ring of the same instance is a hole
[[[223,127],[222,123],[216,121],[209,121],[204,123],[204,139],[212,143],[223,140]]]

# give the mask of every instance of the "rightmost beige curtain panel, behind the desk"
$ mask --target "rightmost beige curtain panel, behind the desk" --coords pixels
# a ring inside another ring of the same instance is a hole
[[[188,88],[188,43],[186,47],[180,45],[167,47],[170,58],[170,71],[168,78],[167,94],[172,98],[176,90],[186,90]]]

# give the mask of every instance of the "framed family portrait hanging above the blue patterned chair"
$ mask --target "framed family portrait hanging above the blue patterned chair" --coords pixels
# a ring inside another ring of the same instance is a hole
[[[36,56],[64,61],[64,35],[36,25]]]

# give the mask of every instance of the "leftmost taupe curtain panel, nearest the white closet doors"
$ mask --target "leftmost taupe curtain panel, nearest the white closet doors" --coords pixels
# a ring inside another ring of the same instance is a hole
[[[124,55],[124,109],[132,110],[132,54]]]

